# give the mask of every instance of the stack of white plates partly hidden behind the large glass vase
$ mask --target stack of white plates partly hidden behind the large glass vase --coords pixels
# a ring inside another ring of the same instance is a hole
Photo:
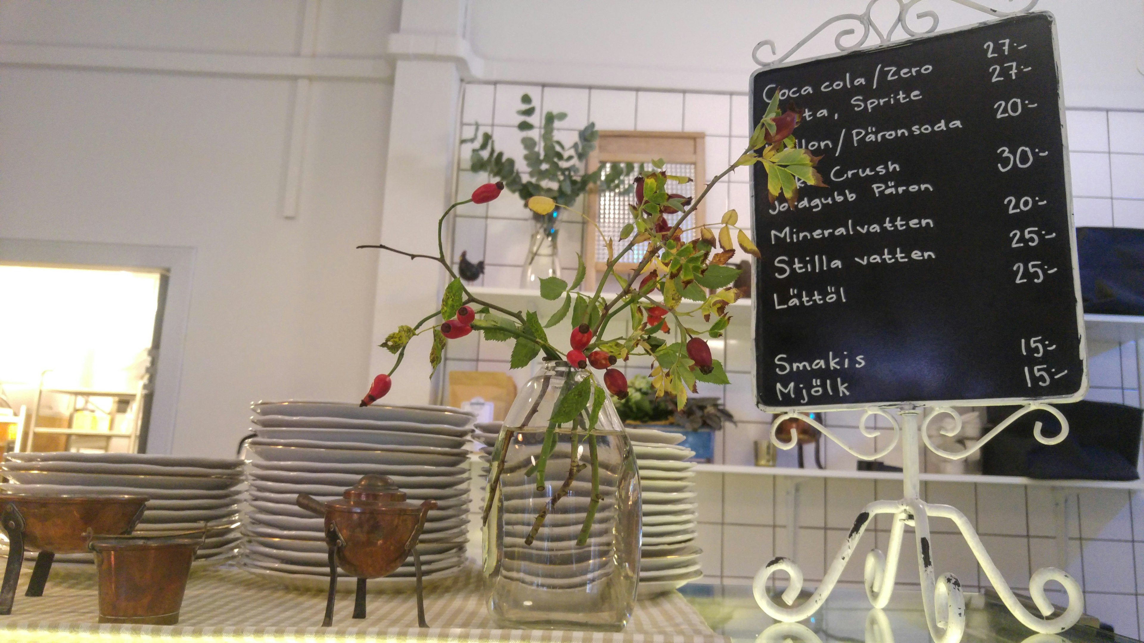
[[[476,426],[474,439],[480,446],[480,460],[487,462],[500,422]],[[680,446],[683,436],[653,429],[627,429],[639,468],[639,492],[643,499],[643,525],[639,559],[639,597],[648,598],[670,592],[702,578],[696,546],[698,505],[692,478],[694,455]]]

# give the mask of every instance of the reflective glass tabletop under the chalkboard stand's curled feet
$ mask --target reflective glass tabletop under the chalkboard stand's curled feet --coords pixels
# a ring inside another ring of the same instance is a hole
[[[680,588],[717,634],[758,643],[925,643],[930,641],[919,592],[895,590],[884,610],[869,606],[866,592],[837,587],[823,608],[799,624],[778,622],[755,603],[749,586],[693,584]],[[1035,611],[1034,611],[1035,613]],[[1017,621],[995,596],[966,594],[963,643],[1131,643],[1133,638],[1081,621],[1059,635],[1038,634]]]

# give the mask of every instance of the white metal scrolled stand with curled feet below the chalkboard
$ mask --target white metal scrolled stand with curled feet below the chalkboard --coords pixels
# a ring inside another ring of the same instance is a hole
[[[940,579],[935,580],[934,541],[930,539],[929,518],[930,516],[936,516],[939,518],[948,518],[958,525],[958,530],[961,532],[962,538],[966,539],[966,542],[969,543],[970,550],[972,550],[974,555],[977,557],[977,562],[980,564],[982,570],[985,571],[985,575],[990,579],[990,584],[993,585],[993,588],[1000,595],[1001,601],[1009,609],[1009,611],[1012,612],[1017,620],[1019,620],[1025,627],[1041,634],[1056,634],[1072,627],[1085,611],[1085,597],[1081,593],[1080,585],[1073,580],[1071,575],[1057,567],[1043,567],[1033,573],[1028,581],[1028,593],[1032,596],[1033,602],[1036,604],[1036,608],[1041,611],[1041,616],[1044,618],[1034,617],[1017,601],[1012,590],[1009,589],[1009,585],[1006,582],[1004,577],[1001,575],[1001,572],[998,571],[996,565],[993,564],[990,555],[985,551],[985,547],[982,545],[980,538],[977,537],[977,532],[974,531],[974,527],[969,524],[966,515],[959,511],[955,507],[951,507],[948,505],[931,505],[921,500],[919,497],[919,435],[925,446],[934,453],[952,460],[960,460],[979,450],[985,445],[985,443],[993,439],[998,432],[1012,423],[1014,420],[1034,410],[1043,410],[1052,413],[1052,415],[1060,421],[1062,427],[1059,434],[1051,438],[1047,438],[1041,434],[1041,422],[1036,422],[1033,435],[1040,443],[1047,445],[1057,444],[1068,435],[1068,422],[1059,411],[1046,404],[1034,403],[1024,406],[1020,411],[1007,418],[1003,422],[994,427],[988,434],[978,440],[978,443],[971,448],[967,448],[960,453],[951,453],[936,447],[930,442],[929,435],[927,434],[927,427],[934,418],[942,414],[948,414],[954,419],[954,426],[943,429],[942,434],[946,436],[954,436],[961,430],[961,416],[948,406],[936,406],[932,408],[930,414],[925,415],[919,427],[919,415],[922,414],[923,408],[913,404],[906,404],[898,410],[903,420],[900,427],[897,419],[895,419],[893,415],[888,413],[885,410],[866,410],[859,422],[859,430],[861,434],[866,437],[874,437],[879,435],[877,430],[868,428],[866,422],[872,415],[881,415],[882,418],[889,420],[893,430],[893,438],[890,440],[889,446],[880,450],[877,453],[861,454],[850,448],[850,446],[835,437],[828,428],[808,415],[801,413],[784,413],[776,416],[773,423],[771,424],[771,442],[779,448],[785,450],[793,448],[799,442],[794,431],[792,431],[789,442],[782,442],[777,436],[779,423],[789,418],[797,418],[810,423],[821,431],[823,435],[842,446],[842,448],[845,448],[863,460],[875,460],[877,458],[882,458],[897,446],[900,438],[904,498],[898,501],[876,500],[867,505],[866,508],[858,514],[858,517],[855,518],[855,525],[850,530],[850,534],[847,537],[845,543],[841,549],[839,549],[839,553],[834,556],[834,562],[826,571],[826,575],[823,578],[823,584],[805,602],[797,606],[794,605],[794,602],[802,593],[802,570],[799,569],[799,565],[795,564],[794,561],[781,556],[764,565],[763,569],[758,570],[758,573],[755,574],[753,584],[755,601],[758,603],[758,606],[762,608],[763,611],[771,618],[785,622],[800,621],[813,614],[831,595],[831,592],[834,589],[834,585],[842,574],[842,570],[847,566],[847,563],[853,555],[855,547],[861,539],[863,533],[866,532],[866,526],[869,525],[871,519],[879,514],[890,514],[893,516],[893,525],[890,530],[890,541],[887,546],[887,553],[883,555],[882,551],[874,549],[866,555],[864,577],[866,584],[866,595],[869,597],[871,604],[875,608],[885,608],[890,602],[890,596],[893,593],[893,582],[897,578],[898,557],[901,553],[901,538],[906,526],[908,525],[913,527],[914,537],[917,540],[917,570],[921,575],[922,603],[925,609],[925,621],[929,626],[930,636],[932,636],[934,641],[937,643],[958,643],[961,641],[961,636],[966,630],[966,605],[962,598],[961,584],[958,581],[955,575],[952,573],[945,573]],[[789,575],[789,585],[781,595],[782,603],[785,603],[785,605],[776,603],[766,592],[766,581],[770,579],[771,574],[778,571],[784,571]],[[1044,586],[1050,580],[1055,580],[1063,585],[1065,592],[1068,594],[1067,609],[1064,613],[1052,619],[1048,618],[1054,611],[1052,603],[1049,602],[1049,598],[1044,593]]]

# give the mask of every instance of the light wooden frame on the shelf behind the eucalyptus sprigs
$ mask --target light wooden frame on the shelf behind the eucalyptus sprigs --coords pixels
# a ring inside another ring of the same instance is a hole
[[[694,164],[698,197],[707,188],[706,135],[702,132],[634,132],[620,129],[603,129],[596,149],[588,154],[588,172],[595,172],[602,162],[644,162],[664,159],[665,162]],[[593,222],[599,220],[599,189],[591,185],[588,189],[588,217]],[[689,227],[706,223],[705,205],[691,215]],[[596,256],[596,230],[588,225],[583,231],[585,265],[587,277],[585,283],[594,287],[597,275],[606,269],[606,257]],[[615,248],[617,252],[620,248]],[[617,263],[617,271],[635,270],[635,263]]]

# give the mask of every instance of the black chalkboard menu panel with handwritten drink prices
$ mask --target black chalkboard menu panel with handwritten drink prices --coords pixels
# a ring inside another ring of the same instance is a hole
[[[1035,13],[755,72],[828,185],[753,166],[760,406],[1083,395],[1058,69]]]

